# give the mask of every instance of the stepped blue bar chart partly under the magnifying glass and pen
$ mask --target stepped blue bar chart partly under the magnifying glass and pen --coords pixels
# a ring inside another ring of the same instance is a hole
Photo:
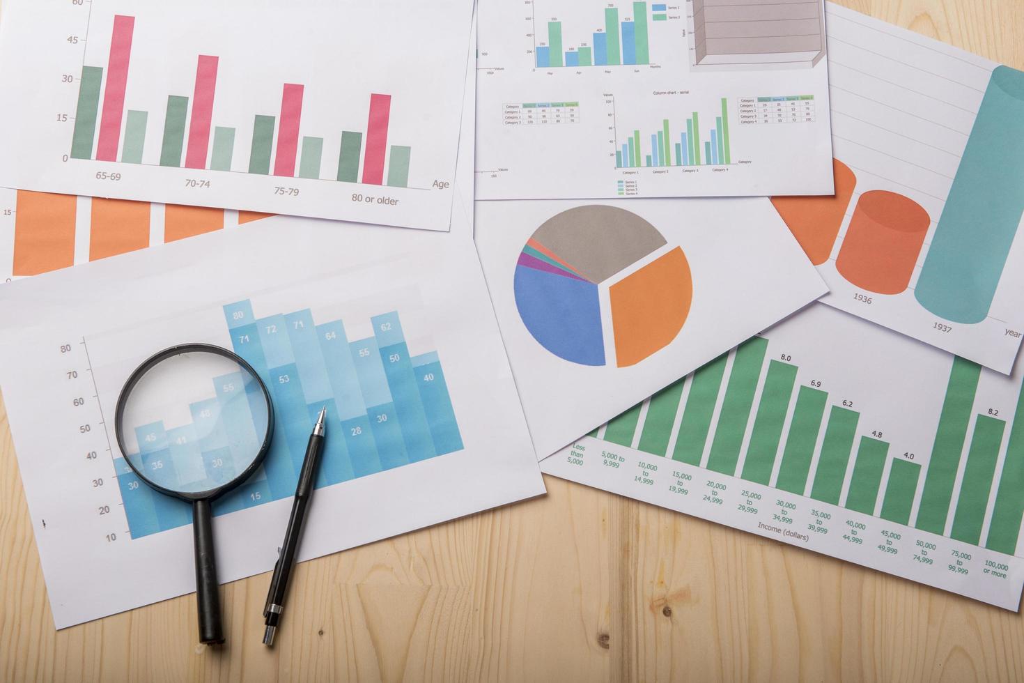
[[[410,353],[396,311],[371,317],[373,336],[354,340],[348,339],[343,321],[317,325],[308,308],[256,317],[251,301],[244,300],[223,311],[234,352],[270,392],[276,425],[263,465],[214,503],[215,515],[294,495],[309,432],[325,405],[331,436],[317,488],[463,449],[440,357],[436,351]],[[262,396],[252,384],[243,401],[231,393],[245,386],[241,375],[215,378],[210,397],[188,407],[190,424],[140,426],[142,462],[157,454],[168,463],[197,462],[176,458],[175,450],[198,447],[207,471],[214,471],[217,463],[232,461],[230,449],[258,447],[252,417],[258,413],[251,401]],[[222,429],[202,425],[209,420]],[[194,439],[195,434],[205,436]],[[115,460],[115,467],[133,539],[191,522],[187,503],[150,488],[123,458]],[[234,473],[225,469],[220,475],[226,481]]]

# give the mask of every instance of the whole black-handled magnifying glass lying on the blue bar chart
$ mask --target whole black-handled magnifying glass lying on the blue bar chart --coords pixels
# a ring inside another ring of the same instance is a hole
[[[200,641],[224,642],[210,504],[249,478],[266,457],[273,435],[266,386],[227,349],[172,346],[128,378],[115,431],[125,461],[142,481],[191,503]]]

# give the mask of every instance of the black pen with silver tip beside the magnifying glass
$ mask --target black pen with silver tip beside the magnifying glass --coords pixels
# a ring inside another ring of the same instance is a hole
[[[285,593],[288,591],[288,577],[295,564],[295,553],[299,549],[302,538],[302,521],[306,518],[306,507],[313,496],[313,479],[316,477],[316,465],[324,450],[324,417],[327,407],[321,410],[313,425],[313,433],[309,435],[306,446],[306,457],[302,460],[302,471],[299,472],[299,483],[295,487],[295,502],[292,503],[292,514],[288,518],[288,530],[285,531],[285,543],[281,546],[278,563],[273,565],[273,578],[270,579],[270,592],[266,594],[266,606],[263,616],[266,618],[266,630],[263,632],[263,644],[273,644],[273,634],[278,631],[278,622],[285,606]]]

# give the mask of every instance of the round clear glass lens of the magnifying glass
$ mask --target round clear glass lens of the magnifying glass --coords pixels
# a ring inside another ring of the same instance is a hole
[[[246,473],[270,424],[262,384],[248,368],[196,350],[168,355],[145,371],[120,417],[132,468],[157,487],[188,498]]]

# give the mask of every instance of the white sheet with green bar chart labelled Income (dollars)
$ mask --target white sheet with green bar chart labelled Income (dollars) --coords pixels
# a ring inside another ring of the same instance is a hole
[[[541,468],[1016,611],[1022,379],[814,304]]]

